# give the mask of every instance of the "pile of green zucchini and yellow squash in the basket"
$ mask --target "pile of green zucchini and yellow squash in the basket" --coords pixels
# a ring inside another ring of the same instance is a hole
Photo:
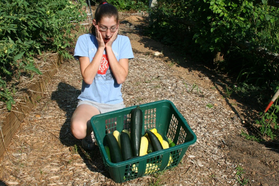
[[[168,141],[162,138],[156,128],[146,130],[142,136],[143,113],[139,107],[131,111],[130,131],[124,129],[121,132],[113,131],[106,134],[108,146],[105,146],[108,159],[113,163],[126,161],[135,157],[144,156],[148,153],[173,147],[175,144],[169,139]],[[170,155],[168,165],[173,162]],[[152,170],[158,169],[158,163],[148,163],[146,165],[145,174],[152,173]],[[132,167],[134,172],[137,172],[137,165]]]

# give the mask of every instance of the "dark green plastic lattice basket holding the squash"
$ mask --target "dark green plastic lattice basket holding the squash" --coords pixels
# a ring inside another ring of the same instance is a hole
[[[177,166],[189,145],[194,144],[197,140],[197,136],[171,101],[161,100],[141,104],[139,108],[143,111],[144,118],[142,135],[147,129],[156,128],[164,140],[171,139],[176,145],[123,162],[110,162],[104,148],[107,145],[106,130],[107,132],[115,130],[121,132],[123,129],[129,131],[131,110],[136,107],[137,105],[99,114],[93,116],[90,121],[104,164],[116,183]]]

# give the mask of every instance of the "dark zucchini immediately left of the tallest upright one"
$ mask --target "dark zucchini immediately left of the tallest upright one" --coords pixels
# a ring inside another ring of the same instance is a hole
[[[122,147],[121,152],[122,152],[123,161],[125,161],[133,156],[130,137],[126,132],[121,132],[120,142]]]

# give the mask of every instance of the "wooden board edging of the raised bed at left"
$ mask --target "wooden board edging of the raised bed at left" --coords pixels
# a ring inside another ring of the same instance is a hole
[[[24,96],[20,96],[18,104],[13,105],[11,112],[0,113],[0,157],[8,148],[11,139],[13,138],[15,132],[20,126],[20,123],[29,114],[31,109],[36,107],[36,102],[43,97],[43,91],[46,90],[47,83],[57,72],[63,58],[61,55],[57,55],[57,59],[52,62],[50,67],[43,72],[39,77],[39,80],[35,83],[30,83],[27,86]]]

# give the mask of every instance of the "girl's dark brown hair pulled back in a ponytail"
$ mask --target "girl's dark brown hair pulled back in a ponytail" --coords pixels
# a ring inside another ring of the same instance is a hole
[[[95,11],[94,19],[98,24],[103,17],[115,17],[118,23],[118,11],[116,7],[107,3],[106,1],[100,2],[99,6]],[[94,24],[92,24],[92,26],[90,27],[90,33],[96,35]]]

